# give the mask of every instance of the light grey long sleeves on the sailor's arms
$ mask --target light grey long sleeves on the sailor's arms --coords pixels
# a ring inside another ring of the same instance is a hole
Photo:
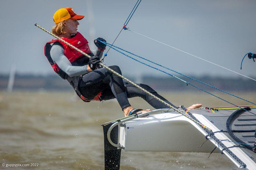
[[[93,55],[97,55],[101,58],[103,52],[100,52],[98,49],[91,51]],[[53,45],[50,51],[52,60],[64,71],[68,76],[81,76],[90,72],[87,70],[88,65],[84,66],[72,66],[68,58],[64,55],[64,48],[59,45]]]

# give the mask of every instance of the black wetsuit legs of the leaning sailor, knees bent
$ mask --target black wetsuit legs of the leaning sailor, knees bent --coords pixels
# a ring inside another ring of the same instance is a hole
[[[109,66],[109,68],[115,70],[119,74],[122,74],[118,66]],[[113,74],[105,68],[93,70],[85,74],[82,77],[82,80],[80,81],[79,85],[84,97],[88,99],[93,99],[99,92],[102,92],[100,100],[110,100],[116,98],[122,109],[124,109],[124,107],[131,106],[127,98],[132,97],[141,97],[142,99],[146,100],[148,104],[150,104],[152,107],[156,109],[169,108],[162,102],[156,100],[151,95],[140,90],[134,85],[126,82],[124,83],[122,78],[116,76],[115,74]],[[151,92],[152,94],[169,103],[173,107],[176,107],[172,103],[164,99],[162,96],[160,96],[155,90],[153,90],[148,85],[137,85],[146,89],[148,92]]]

